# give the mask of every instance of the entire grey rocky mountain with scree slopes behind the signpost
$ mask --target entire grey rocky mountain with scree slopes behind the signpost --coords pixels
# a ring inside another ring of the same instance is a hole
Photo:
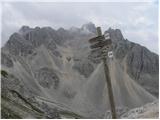
[[[124,39],[119,29],[106,32],[113,42],[109,64],[117,107],[123,111],[157,99],[158,55]],[[2,117],[104,118],[109,102],[103,66],[88,43],[95,33],[88,23],[69,30],[23,26],[12,34],[1,49]]]

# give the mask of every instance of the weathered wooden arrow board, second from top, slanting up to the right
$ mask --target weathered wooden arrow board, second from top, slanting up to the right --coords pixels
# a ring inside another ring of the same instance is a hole
[[[96,44],[91,45],[90,48],[91,48],[91,49],[99,48],[99,47],[101,48],[101,47],[110,45],[111,43],[112,43],[111,39],[105,40],[105,41],[99,41],[99,42],[97,42]]]

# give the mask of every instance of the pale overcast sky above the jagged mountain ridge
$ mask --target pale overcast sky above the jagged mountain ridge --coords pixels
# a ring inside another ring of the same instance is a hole
[[[125,38],[158,53],[158,0],[152,2],[2,3],[2,45],[22,25],[66,29],[93,22],[121,29]]]

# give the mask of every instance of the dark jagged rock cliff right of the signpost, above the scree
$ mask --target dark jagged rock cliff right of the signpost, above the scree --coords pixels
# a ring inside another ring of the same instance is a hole
[[[121,62],[126,62],[127,73],[147,91],[158,97],[158,55],[141,45],[125,40],[120,30],[110,28],[106,32],[111,34],[114,42],[115,57]]]

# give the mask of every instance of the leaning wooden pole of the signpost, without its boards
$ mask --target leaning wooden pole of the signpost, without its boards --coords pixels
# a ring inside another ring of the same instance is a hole
[[[102,32],[101,32],[100,27],[97,27],[97,34],[98,34],[98,36],[102,36]],[[111,79],[110,79],[110,73],[109,73],[109,69],[108,69],[108,65],[107,65],[107,57],[102,56],[102,61],[104,64],[104,73],[105,73],[106,82],[107,82],[108,96],[109,96],[112,118],[116,119],[116,109],[115,109],[115,104],[114,104],[114,96],[113,96],[113,91],[112,91],[112,83],[111,83]]]

